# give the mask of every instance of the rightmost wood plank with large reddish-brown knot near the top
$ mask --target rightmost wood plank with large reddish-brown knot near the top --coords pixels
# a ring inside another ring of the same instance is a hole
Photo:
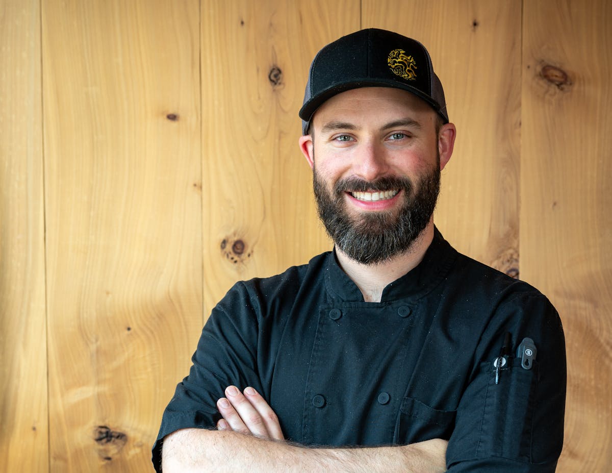
[[[521,268],[565,328],[558,471],[610,471],[612,5],[525,2],[523,23]]]

